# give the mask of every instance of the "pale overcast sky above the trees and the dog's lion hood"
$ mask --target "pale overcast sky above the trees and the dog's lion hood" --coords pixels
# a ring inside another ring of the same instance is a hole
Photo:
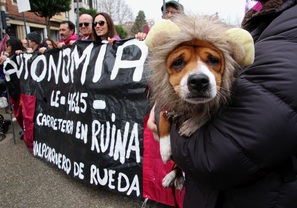
[[[161,20],[161,6],[163,5],[163,0],[125,0],[125,2],[132,9],[134,19],[138,11],[143,10],[146,19],[154,19],[155,23]],[[246,0],[179,0],[179,3],[184,6],[185,11],[208,15],[213,15],[218,12],[220,18],[233,24],[236,24],[238,21],[241,22],[244,17],[245,2]],[[254,4],[255,2],[251,1],[251,5]]]

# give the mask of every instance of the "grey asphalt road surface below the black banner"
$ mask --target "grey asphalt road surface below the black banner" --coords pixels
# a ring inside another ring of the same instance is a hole
[[[4,109],[0,114],[10,119]],[[34,157],[20,140],[15,121],[13,143],[10,126],[0,141],[0,207],[141,207],[133,200],[70,178],[45,161]],[[0,132],[2,133],[2,132]],[[147,204],[147,208],[157,208]]]

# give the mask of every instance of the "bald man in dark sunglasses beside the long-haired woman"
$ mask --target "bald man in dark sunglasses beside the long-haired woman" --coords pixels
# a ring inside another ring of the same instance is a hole
[[[79,31],[82,34],[80,40],[92,40],[93,18],[89,14],[82,14],[79,17]]]

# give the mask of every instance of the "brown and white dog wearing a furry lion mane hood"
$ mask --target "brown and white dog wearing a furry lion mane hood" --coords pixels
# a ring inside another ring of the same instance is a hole
[[[151,28],[145,42],[150,49],[146,64],[146,67],[151,70],[150,99],[151,103],[157,103],[161,108],[160,153],[163,162],[166,163],[171,157],[172,116],[179,115],[179,124],[181,124],[179,133],[190,136],[211,117],[219,114],[230,103],[232,91],[237,83],[239,65],[252,64],[255,49],[252,37],[247,31],[229,26],[217,17],[208,15],[181,14],[172,21],[159,21]],[[197,60],[194,57],[196,65],[188,66],[188,62],[183,58],[171,60],[171,56],[178,53],[181,47],[184,47],[185,53],[188,53],[187,56],[191,57],[196,50],[189,49],[191,47],[203,48],[204,52],[197,52],[197,57],[195,56]],[[189,52],[191,50],[192,52]],[[199,57],[198,54],[202,53],[205,55]],[[203,57],[208,54],[214,54],[214,56],[209,55],[206,60],[203,60]],[[213,85],[213,90],[205,91],[203,94],[198,93],[196,88],[195,93],[189,93],[192,85],[189,77],[203,74],[199,67],[207,71],[207,74],[213,74],[203,78],[208,79],[207,85]],[[187,69],[187,73],[183,72],[184,68]],[[194,94],[194,98],[187,97],[191,93]],[[199,97],[198,95],[201,94],[203,96]],[[181,171],[168,174],[167,179],[166,177],[163,179],[163,186],[168,188],[177,179],[179,181],[175,185],[178,190],[181,190],[183,177],[178,177],[181,175],[178,172]]]

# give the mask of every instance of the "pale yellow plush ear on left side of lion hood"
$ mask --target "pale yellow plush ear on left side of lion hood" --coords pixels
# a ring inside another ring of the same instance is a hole
[[[175,35],[180,31],[175,23],[162,19],[151,28],[145,43],[150,49],[164,45],[168,41],[168,36]]]

